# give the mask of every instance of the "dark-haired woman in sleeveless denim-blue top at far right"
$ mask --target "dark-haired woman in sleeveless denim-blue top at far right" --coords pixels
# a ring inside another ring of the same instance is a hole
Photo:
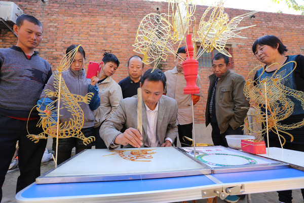
[[[304,91],[304,56],[286,55],[286,46],[273,35],[258,38],[252,45],[252,51],[257,60],[265,64],[254,76],[257,83],[263,79],[276,78],[277,76],[282,78],[284,86]],[[298,123],[304,118],[304,110],[300,101],[293,96],[288,98],[294,103],[293,113],[288,118],[280,121],[281,125]],[[283,148],[304,152],[304,126],[285,131],[292,134],[294,140],[291,142],[288,134],[281,132],[281,135],[286,139]],[[264,138],[267,141],[267,137],[264,136]],[[270,147],[281,147],[278,135],[273,131],[269,131],[269,145]],[[304,197],[304,189],[301,189],[301,192]],[[291,203],[291,190],[278,191],[278,193],[279,201]]]

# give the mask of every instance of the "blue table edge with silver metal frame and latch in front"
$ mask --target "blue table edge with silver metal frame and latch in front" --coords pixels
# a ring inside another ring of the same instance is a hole
[[[176,178],[87,183],[35,183],[17,202],[173,202],[231,194],[304,188],[304,172],[293,168]]]

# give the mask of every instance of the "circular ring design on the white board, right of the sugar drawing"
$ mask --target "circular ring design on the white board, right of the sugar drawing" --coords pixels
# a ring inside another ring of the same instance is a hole
[[[252,158],[234,154],[202,154],[198,155],[196,158],[203,163],[216,166],[237,166],[257,163],[256,160]]]

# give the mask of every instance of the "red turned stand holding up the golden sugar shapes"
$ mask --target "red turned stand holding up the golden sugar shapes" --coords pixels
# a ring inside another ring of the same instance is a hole
[[[192,46],[192,36],[186,35],[186,55],[187,59],[182,62],[182,69],[187,82],[184,88],[184,94],[199,94],[200,88],[196,85],[196,79],[198,77],[198,67],[199,61],[195,60],[193,57],[193,46]]]

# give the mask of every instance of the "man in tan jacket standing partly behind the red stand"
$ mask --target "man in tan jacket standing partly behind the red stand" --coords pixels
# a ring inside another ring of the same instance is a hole
[[[192,142],[184,139],[186,136],[192,138],[192,108],[191,108],[191,94],[184,94],[183,89],[186,87],[186,80],[182,69],[182,59],[186,59],[185,47],[180,47],[177,50],[175,59],[175,67],[170,71],[166,71],[165,75],[167,78],[165,92],[167,96],[176,99],[178,112],[178,137],[182,147],[191,146]],[[196,80],[196,85],[201,89],[201,79],[198,75]],[[201,94],[193,95],[194,104],[200,100]],[[177,139],[175,139],[174,144],[176,146]]]

